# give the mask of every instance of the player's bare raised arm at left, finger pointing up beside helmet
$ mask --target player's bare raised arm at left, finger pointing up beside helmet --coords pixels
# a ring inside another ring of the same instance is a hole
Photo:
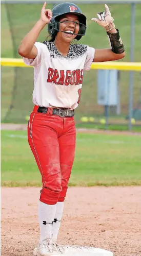
[[[27,33],[18,47],[18,54],[22,57],[33,59],[37,56],[37,48],[34,45],[41,30],[48,24],[52,18],[52,11],[46,8],[46,2],[41,10],[41,18],[36,22],[34,27]]]

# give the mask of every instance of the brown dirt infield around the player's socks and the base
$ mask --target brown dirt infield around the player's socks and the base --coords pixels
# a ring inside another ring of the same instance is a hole
[[[33,255],[39,188],[2,187],[2,256]],[[58,242],[141,255],[141,187],[69,187]]]

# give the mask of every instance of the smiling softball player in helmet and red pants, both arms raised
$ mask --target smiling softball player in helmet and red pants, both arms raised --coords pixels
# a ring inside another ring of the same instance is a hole
[[[38,204],[40,240],[37,256],[62,254],[57,244],[64,199],[75,153],[74,109],[82,91],[83,75],[92,62],[121,59],[124,45],[115,29],[107,5],[93,21],[103,26],[111,48],[94,49],[71,44],[86,33],[86,16],[73,3],[41,10],[41,18],[18,48],[27,65],[34,67],[34,109],[28,122],[28,141],[42,175],[43,188]],[[48,24],[49,41],[36,42]],[[98,37],[97,37],[98,40]]]

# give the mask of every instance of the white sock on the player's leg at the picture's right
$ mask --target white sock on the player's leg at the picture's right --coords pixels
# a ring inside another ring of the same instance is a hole
[[[64,208],[64,202],[57,202],[56,203],[56,213],[52,225],[52,238],[54,241],[57,241],[57,235],[59,232],[59,227],[61,225],[61,219],[63,215],[63,208]]]

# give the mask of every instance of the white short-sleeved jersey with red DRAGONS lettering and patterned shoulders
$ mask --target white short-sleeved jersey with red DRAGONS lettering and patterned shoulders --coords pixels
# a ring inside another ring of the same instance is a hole
[[[90,70],[95,49],[71,44],[63,57],[53,42],[36,42],[37,56],[24,58],[34,67],[33,103],[41,107],[75,109],[82,91],[84,70]]]

